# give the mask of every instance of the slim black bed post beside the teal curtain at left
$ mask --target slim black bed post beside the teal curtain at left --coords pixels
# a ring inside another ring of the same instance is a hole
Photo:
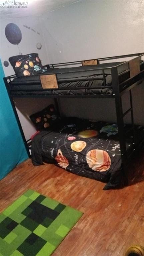
[[[14,111],[14,115],[15,115],[15,118],[16,118],[16,121],[17,121],[19,130],[20,130],[20,133],[21,133],[23,142],[24,142],[25,149],[26,149],[26,151],[27,151],[28,157],[31,158],[31,155],[30,155],[30,152],[29,152],[29,149],[28,149],[28,146],[27,146],[27,141],[26,141],[26,138],[25,138],[25,135],[24,135],[24,132],[23,132],[23,129],[22,129],[20,120],[19,120],[19,116],[18,116],[18,113],[17,113],[17,111],[16,111],[16,107],[15,107],[13,98],[12,98],[12,96],[10,95],[10,92],[9,92],[7,79],[6,79],[5,77],[4,77],[3,79],[4,79],[4,82],[5,82],[5,85],[6,85],[7,93],[8,93],[8,96],[9,96],[9,99],[10,99],[10,102],[11,102],[11,105],[12,105],[12,108],[13,108],[13,111]]]

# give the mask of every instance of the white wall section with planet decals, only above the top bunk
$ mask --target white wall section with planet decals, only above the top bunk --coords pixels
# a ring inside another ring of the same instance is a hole
[[[5,60],[8,61],[9,57],[19,55],[19,52],[21,52],[23,55],[36,52],[39,54],[42,64],[47,64],[49,60],[46,54],[45,42],[43,39],[43,32],[39,21],[39,16],[1,19],[0,23],[0,56],[2,65]],[[11,44],[5,36],[5,27],[9,23],[16,24],[21,30],[22,40],[18,46]],[[32,29],[36,32],[34,32]],[[40,50],[38,50],[36,47],[37,43],[41,43],[42,45]],[[13,67],[10,65],[10,63],[8,67],[3,65],[3,68],[6,76],[14,74]]]

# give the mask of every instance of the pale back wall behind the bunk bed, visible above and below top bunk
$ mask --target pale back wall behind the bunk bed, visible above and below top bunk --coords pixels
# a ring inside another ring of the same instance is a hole
[[[50,63],[144,52],[144,1],[83,0],[41,16],[41,24]],[[144,86],[133,95],[135,123],[144,124]],[[113,100],[60,102],[66,115],[116,121]]]

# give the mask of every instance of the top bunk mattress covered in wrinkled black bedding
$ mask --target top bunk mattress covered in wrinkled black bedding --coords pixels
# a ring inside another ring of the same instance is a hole
[[[121,64],[122,62],[103,63],[92,66],[80,66],[71,68],[50,68],[45,74],[57,74],[59,89],[42,90],[39,76],[26,76],[15,78],[10,83],[12,94],[16,95],[85,95],[85,94],[107,94],[112,95],[112,88],[105,88],[103,74],[98,68],[108,68]],[[128,64],[118,68],[118,73],[126,71]],[[64,73],[65,72],[65,73]],[[67,73],[66,73],[67,72]],[[119,77],[122,82],[129,78],[129,71]],[[91,80],[95,79],[95,80]],[[105,86],[112,86],[111,70],[105,69]],[[102,87],[99,89],[97,87]],[[41,91],[38,91],[40,90]],[[25,90],[25,91],[24,91]]]

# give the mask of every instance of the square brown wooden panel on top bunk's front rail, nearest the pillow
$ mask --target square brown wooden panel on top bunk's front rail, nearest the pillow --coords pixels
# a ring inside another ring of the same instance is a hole
[[[55,89],[58,88],[56,75],[41,75],[41,85],[43,89]]]

